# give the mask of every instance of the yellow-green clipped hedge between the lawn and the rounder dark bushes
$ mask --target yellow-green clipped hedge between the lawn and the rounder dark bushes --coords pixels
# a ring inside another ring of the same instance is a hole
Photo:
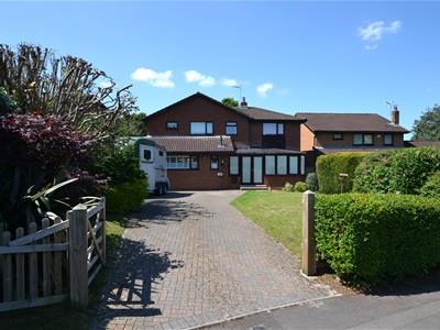
[[[343,191],[351,191],[354,170],[366,155],[369,153],[365,152],[342,152],[319,156],[316,164],[319,191],[324,194],[341,193],[340,173],[349,175],[343,182]]]

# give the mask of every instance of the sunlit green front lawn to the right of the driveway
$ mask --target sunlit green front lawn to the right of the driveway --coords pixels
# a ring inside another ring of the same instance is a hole
[[[232,206],[301,257],[301,198],[300,193],[246,191]]]

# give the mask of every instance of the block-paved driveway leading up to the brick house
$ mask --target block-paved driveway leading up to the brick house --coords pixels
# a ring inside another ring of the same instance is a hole
[[[94,328],[187,329],[331,295],[229,205],[240,194],[148,199],[124,232]]]

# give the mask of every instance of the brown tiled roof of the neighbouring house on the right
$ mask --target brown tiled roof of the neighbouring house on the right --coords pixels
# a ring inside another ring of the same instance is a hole
[[[306,125],[315,132],[408,133],[403,127],[392,124],[388,120],[376,113],[299,112],[295,116],[307,119]]]

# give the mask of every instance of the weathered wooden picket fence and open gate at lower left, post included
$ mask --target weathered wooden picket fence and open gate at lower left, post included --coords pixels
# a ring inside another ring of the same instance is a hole
[[[12,240],[13,238],[13,240]],[[106,264],[106,200],[48,213],[0,241],[0,311],[70,299],[87,306],[88,286]]]

